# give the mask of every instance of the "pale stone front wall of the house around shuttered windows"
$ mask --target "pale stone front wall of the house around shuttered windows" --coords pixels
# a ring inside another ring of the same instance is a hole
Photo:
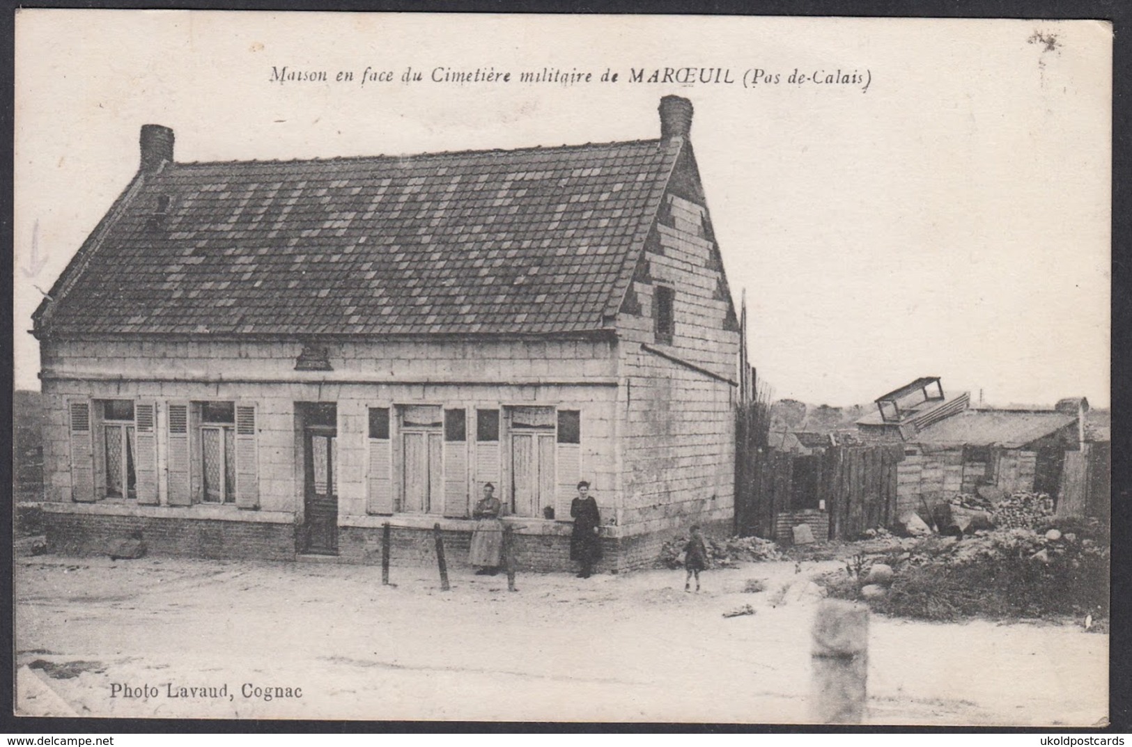
[[[67,402],[157,402],[161,504],[168,501],[168,403],[222,400],[257,406],[260,512],[302,509],[297,402],[335,402],[340,523],[363,516],[369,406],[429,403],[469,409],[544,404],[582,413],[582,470],[602,507],[616,510],[615,346],[563,341],[331,344],[332,371],[294,371],[297,343],[48,342],[43,349],[45,499],[70,501]],[[471,488],[470,488],[471,489]],[[211,512],[217,507],[197,506]],[[234,507],[222,507],[233,516]],[[183,510],[183,509],[182,509]]]

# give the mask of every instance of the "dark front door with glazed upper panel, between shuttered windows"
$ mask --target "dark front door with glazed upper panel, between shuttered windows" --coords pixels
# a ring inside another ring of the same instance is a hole
[[[337,555],[337,406],[334,403],[310,404],[303,414],[305,513],[300,549],[312,555]]]

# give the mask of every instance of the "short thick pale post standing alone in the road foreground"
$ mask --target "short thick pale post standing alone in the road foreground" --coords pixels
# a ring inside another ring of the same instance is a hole
[[[860,723],[868,675],[868,608],[826,599],[814,619],[809,710],[814,723]]]

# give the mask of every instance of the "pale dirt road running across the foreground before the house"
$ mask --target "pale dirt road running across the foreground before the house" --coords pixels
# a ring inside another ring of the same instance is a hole
[[[508,593],[501,575],[458,573],[441,592],[430,568],[394,568],[396,586],[381,586],[367,566],[20,558],[18,707],[804,722],[816,600],[772,603],[783,585],[829,567],[798,575],[792,563],[745,564],[705,573],[698,594],[683,591],[678,570],[529,575]],[[745,593],[749,578],[767,591]],[[756,613],[722,616],[743,604]],[[1094,724],[1107,713],[1107,667],[1108,636],[1070,625],[874,616],[869,720]]]

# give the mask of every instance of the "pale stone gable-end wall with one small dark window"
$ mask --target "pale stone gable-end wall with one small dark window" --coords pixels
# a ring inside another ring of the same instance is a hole
[[[621,330],[618,401],[623,417],[621,525],[628,533],[730,520],[735,512],[735,412],[738,332],[721,293],[721,269],[706,208],[669,194],[632,287]],[[642,280],[643,278],[643,280]],[[672,343],[658,342],[657,285],[675,290]],[[732,318],[734,319],[734,318]],[[650,352],[669,353],[709,376]]]

